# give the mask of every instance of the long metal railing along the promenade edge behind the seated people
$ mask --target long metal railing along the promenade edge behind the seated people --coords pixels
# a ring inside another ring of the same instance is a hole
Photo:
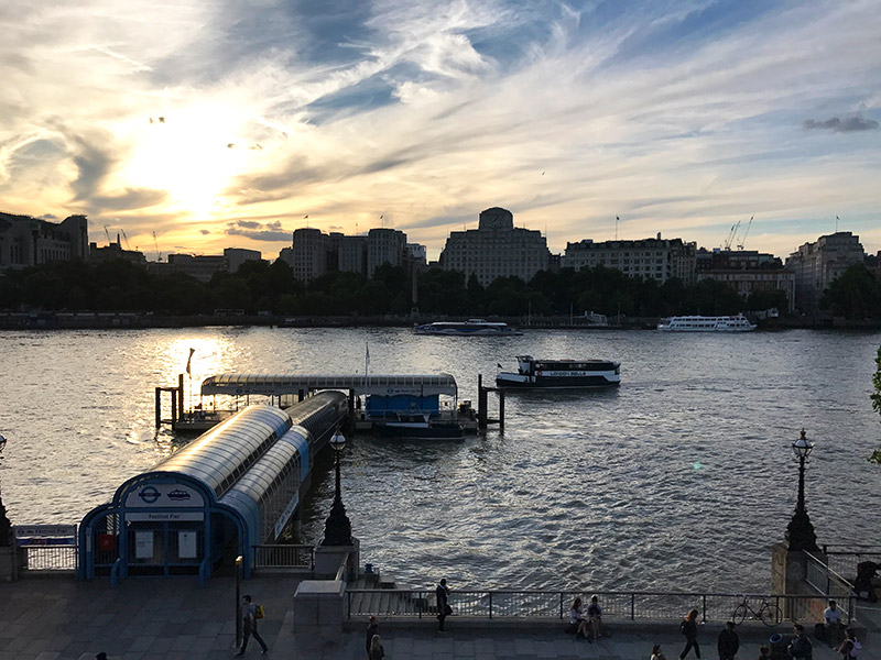
[[[769,594],[725,594],[684,592],[594,592],[570,591],[454,591],[449,605],[454,615],[475,618],[536,618],[565,620],[576,597],[587,603],[591,595],[599,597],[603,619],[678,620],[690,608],[698,610],[700,620],[730,620],[738,605],[748,598],[758,612],[762,600],[776,604],[788,620],[812,622],[798,615],[825,607],[828,594],[784,596]],[[853,612],[853,596],[836,596],[846,607],[848,620]],[[423,618],[437,614],[434,590],[365,590],[347,591],[348,617],[376,615],[381,617]],[[822,609],[820,609],[822,612]],[[792,614],[791,614],[792,613]],[[783,622],[781,622],[783,623]]]

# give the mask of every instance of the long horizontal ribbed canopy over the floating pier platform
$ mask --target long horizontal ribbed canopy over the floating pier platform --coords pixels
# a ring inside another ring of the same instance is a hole
[[[202,394],[278,396],[319,389],[350,391],[356,396],[420,394],[458,396],[456,378],[449,374],[297,375],[218,374],[202,382]]]

